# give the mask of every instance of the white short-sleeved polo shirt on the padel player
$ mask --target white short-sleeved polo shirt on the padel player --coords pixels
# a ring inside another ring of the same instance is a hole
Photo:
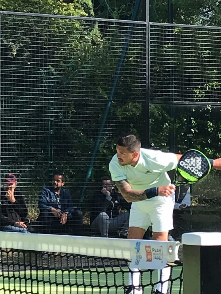
[[[115,154],[109,163],[109,171],[113,181],[127,179],[132,189],[139,191],[169,185],[170,178],[166,172],[174,169],[177,163],[174,153],[141,148],[136,166],[121,166]]]

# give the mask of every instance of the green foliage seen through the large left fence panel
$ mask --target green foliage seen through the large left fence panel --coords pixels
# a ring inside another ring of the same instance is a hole
[[[5,172],[11,169],[28,175],[31,190],[27,194],[36,196],[39,180],[47,184],[52,171],[62,170],[79,198],[123,46],[124,64],[92,180],[98,182],[108,173],[119,133],[141,135],[145,128],[140,117],[145,102],[146,49],[136,38],[139,32],[139,39],[145,41],[145,31],[79,19],[2,15],[1,21],[2,103],[5,99],[6,111],[11,109],[16,117],[11,121],[14,129],[28,128],[22,138],[14,132],[7,140],[7,126],[3,127],[5,150],[13,152],[13,161],[7,151],[3,154],[8,163]],[[7,113],[3,116],[3,121],[8,119]]]

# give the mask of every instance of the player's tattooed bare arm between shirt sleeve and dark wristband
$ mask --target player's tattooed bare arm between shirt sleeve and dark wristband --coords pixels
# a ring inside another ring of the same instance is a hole
[[[116,186],[127,202],[136,202],[147,199],[145,191],[134,191],[126,179],[117,181]]]

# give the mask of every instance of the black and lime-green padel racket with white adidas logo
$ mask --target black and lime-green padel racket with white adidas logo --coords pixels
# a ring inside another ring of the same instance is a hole
[[[210,170],[210,160],[202,152],[190,149],[182,155],[177,164],[174,184],[193,184],[207,176]]]

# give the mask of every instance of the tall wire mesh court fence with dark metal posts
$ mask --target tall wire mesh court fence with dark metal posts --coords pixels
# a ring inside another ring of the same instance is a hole
[[[121,134],[220,156],[220,32],[1,12],[1,186],[16,175],[35,221],[40,191],[64,173],[89,227]]]

